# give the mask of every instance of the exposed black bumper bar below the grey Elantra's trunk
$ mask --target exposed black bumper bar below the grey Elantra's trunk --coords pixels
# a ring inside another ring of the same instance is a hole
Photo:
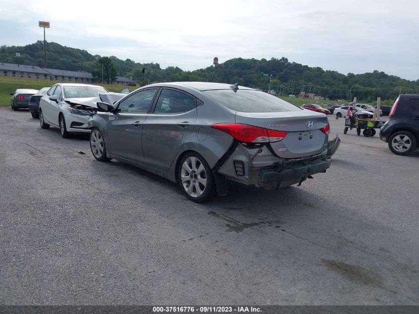
[[[326,172],[330,167],[330,157],[316,159],[309,162],[300,162],[292,165],[279,165],[270,169],[261,169],[259,171],[259,186],[268,183],[304,181],[308,176],[319,172]]]

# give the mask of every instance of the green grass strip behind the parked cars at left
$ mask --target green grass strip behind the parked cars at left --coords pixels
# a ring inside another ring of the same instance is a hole
[[[18,88],[30,88],[30,89],[41,89],[42,87],[51,87],[61,81],[50,81],[42,79],[31,79],[31,78],[7,78],[0,77],[0,106],[10,106],[10,93]],[[68,82],[65,82],[68,83]],[[123,85],[108,85],[108,84],[95,84],[105,87],[110,92],[118,93],[122,88],[127,87]],[[129,90],[134,90],[135,87],[129,86]]]

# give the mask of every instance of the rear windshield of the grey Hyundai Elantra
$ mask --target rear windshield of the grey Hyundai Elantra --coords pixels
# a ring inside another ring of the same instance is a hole
[[[286,112],[301,108],[278,97],[255,90],[232,89],[206,90],[203,93],[214,98],[227,108],[239,112]]]

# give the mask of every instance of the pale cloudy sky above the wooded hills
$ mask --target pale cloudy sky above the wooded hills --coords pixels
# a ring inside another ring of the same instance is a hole
[[[419,79],[415,0],[0,0],[0,45],[43,39],[139,63],[203,68],[286,57],[341,73]]]

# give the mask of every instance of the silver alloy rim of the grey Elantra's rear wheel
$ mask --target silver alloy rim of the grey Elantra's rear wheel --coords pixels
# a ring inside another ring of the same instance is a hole
[[[186,193],[192,197],[201,196],[207,186],[205,167],[196,157],[188,157],[183,162],[180,179]]]

